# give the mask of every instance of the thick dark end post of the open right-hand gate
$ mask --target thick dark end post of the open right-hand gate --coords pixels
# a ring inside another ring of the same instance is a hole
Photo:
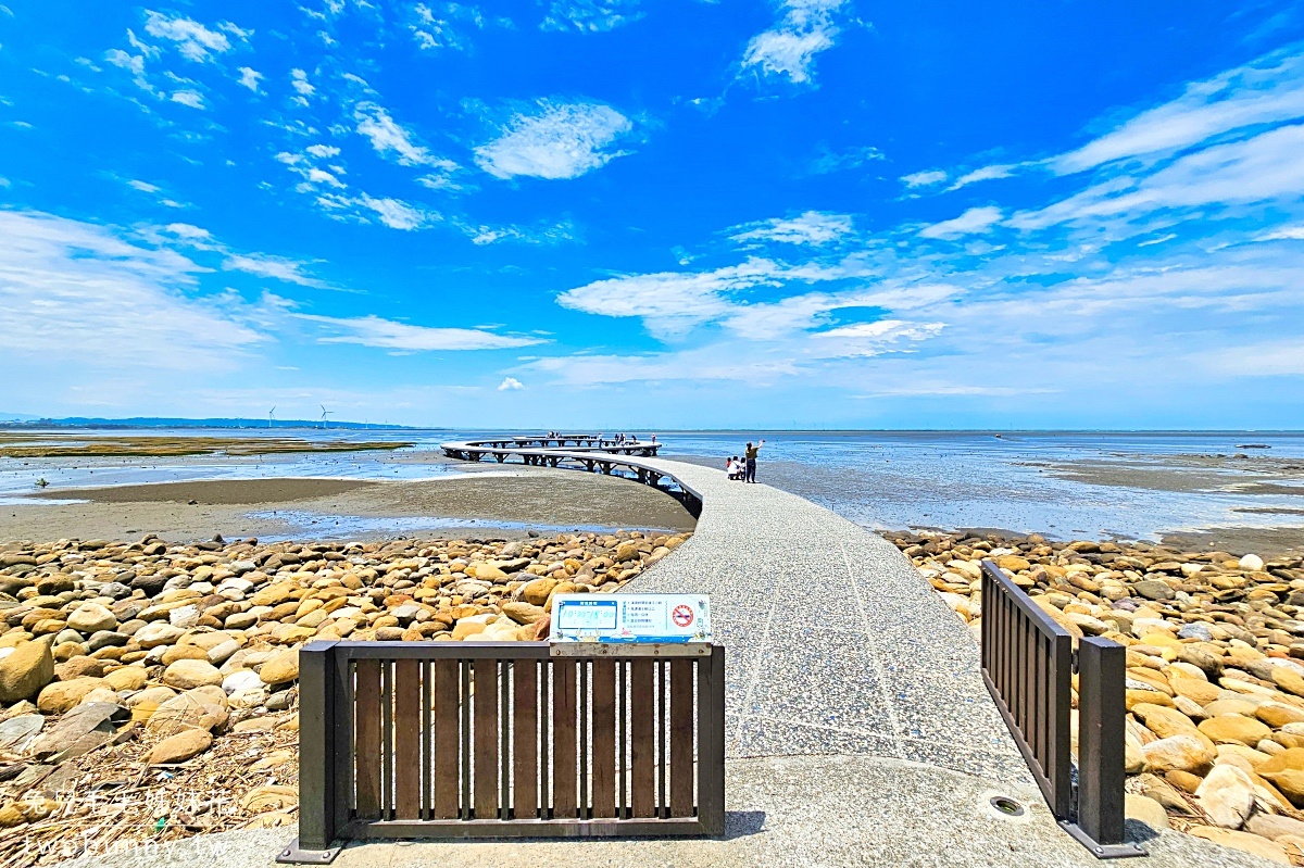
[[[1077,649],[1077,822],[1071,835],[1098,859],[1142,856],[1123,843],[1123,679],[1127,649],[1088,636]]]

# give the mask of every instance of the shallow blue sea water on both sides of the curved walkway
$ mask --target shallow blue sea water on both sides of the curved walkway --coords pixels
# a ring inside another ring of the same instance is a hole
[[[149,433],[258,435],[249,429]],[[50,482],[48,493],[201,478],[430,478],[459,473],[459,465],[442,460],[439,443],[493,434],[501,433],[276,429],[276,437],[413,441],[416,446],[395,452],[244,459],[0,459],[0,498],[30,493],[42,477]],[[87,439],[94,435],[86,433]],[[647,433],[640,435],[645,439]],[[1172,530],[1304,524],[1304,473],[1278,469],[1265,486],[1260,472],[1265,461],[1304,459],[1304,434],[1299,433],[659,431],[662,455],[700,456],[721,467],[725,457],[742,452],[746,441],[762,437],[767,443],[760,481],[870,528],[1003,528],[1055,537],[1157,538]],[[1270,448],[1243,448],[1247,444]],[[1237,452],[1249,457],[1230,464],[1198,457]],[[411,529],[451,527],[432,524],[442,519],[429,521]]]

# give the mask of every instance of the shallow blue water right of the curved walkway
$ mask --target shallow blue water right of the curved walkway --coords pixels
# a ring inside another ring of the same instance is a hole
[[[1001,528],[1153,540],[1172,530],[1304,524],[1300,515],[1236,511],[1300,508],[1304,489],[1247,494],[1237,486],[1256,474],[1197,470],[1185,457],[1240,452],[1256,460],[1301,459],[1300,434],[686,434],[665,435],[664,454],[734,455],[760,437],[767,443],[759,481],[878,529]],[[1249,443],[1270,448],[1237,448]],[[1145,484],[1104,485],[1068,474]],[[1201,485],[1184,490],[1196,476]]]

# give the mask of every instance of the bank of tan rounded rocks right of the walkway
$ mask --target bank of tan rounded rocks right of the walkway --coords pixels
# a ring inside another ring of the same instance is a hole
[[[975,637],[991,559],[1076,639],[1128,646],[1129,816],[1304,865],[1304,558],[887,536]]]

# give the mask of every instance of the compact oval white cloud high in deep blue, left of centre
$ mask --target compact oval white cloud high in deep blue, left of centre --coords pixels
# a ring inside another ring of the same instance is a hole
[[[541,99],[537,112],[514,115],[498,138],[477,147],[476,164],[499,179],[579,177],[623,156],[606,149],[632,129],[610,106]]]

